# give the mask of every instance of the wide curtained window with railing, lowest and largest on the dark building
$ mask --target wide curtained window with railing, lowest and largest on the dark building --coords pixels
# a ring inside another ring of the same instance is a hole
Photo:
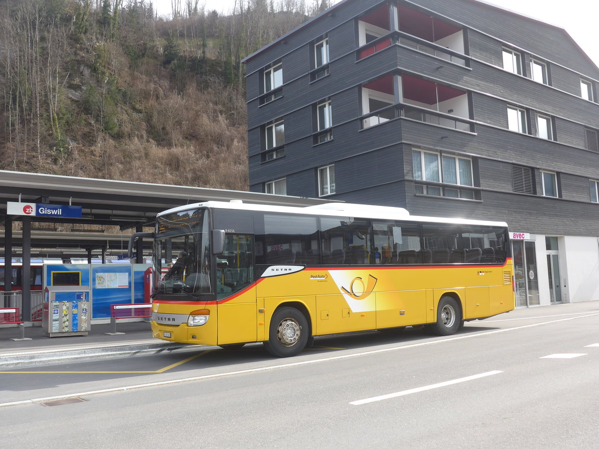
[[[466,157],[413,150],[414,179],[431,183],[455,184],[472,187],[472,160]],[[473,190],[456,189],[449,186],[416,184],[415,192],[422,195],[449,196],[450,198],[474,199]]]

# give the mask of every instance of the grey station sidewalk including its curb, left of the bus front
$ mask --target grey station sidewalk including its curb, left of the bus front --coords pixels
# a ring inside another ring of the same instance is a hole
[[[25,327],[25,337],[30,340],[13,341],[20,338],[19,327],[0,328],[0,370],[16,366],[58,365],[66,362],[86,362],[92,359],[108,359],[152,354],[161,351],[184,350],[194,345],[170,343],[152,338],[150,323],[117,323],[122,335],[107,335],[113,332],[111,324],[93,324],[87,335],[56,336],[49,338],[41,326]]]

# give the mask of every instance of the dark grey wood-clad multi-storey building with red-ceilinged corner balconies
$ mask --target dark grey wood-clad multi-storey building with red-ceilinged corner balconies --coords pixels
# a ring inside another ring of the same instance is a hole
[[[250,190],[506,221],[519,307],[599,299],[599,69],[474,0],[345,0],[247,57]]]

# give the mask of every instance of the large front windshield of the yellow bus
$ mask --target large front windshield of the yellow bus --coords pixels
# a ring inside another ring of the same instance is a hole
[[[211,293],[208,211],[195,209],[158,217],[154,243],[155,293],[181,293],[181,300]]]

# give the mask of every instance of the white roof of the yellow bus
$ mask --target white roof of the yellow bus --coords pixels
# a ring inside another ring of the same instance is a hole
[[[401,207],[389,206],[374,206],[367,204],[351,204],[351,203],[327,203],[307,207],[290,207],[290,206],[273,206],[264,204],[249,204],[239,200],[224,202],[224,201],[206,201],[203,203],[186,204],[184,206],[175,207],[158,214],[158,217],[166,214],[177,213],[186,210],[197,209],[200,207],[208,207],[215,209],[231,209],[244,211],[264,211],[264,212],[284,212],[289,214],[313,214],[331,217],[361,217],[366,219],[382,219],[382,220],[409,220],[411,222],[435,222],[435,223],[450,223],[455,225],[486,225],[486,226],[505,226],[505,222],[491,222],[486,220],[467,220],[467,219],[450,219],[444,217],[421,217],[412,216],[410,213]]]

